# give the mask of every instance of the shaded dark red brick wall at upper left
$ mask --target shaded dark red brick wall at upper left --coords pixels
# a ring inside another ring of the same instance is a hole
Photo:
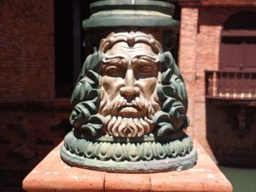
[[[1,0],[0,13],[0,97],[53,98],[53,1]]]

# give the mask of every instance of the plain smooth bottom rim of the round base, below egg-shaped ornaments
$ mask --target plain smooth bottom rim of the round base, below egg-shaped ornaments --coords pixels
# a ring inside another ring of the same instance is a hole
[[[105,172],[165,172],[170,170],[181,171],[189,169],[197,161],[197,150],[193,149],[188,155],[177,158],[165,158],[152,161],[116,162],[100,161],[97,159],[84,158],[70,153],[64,145],[60,149],[61,159],[70,166],[93,169]]]

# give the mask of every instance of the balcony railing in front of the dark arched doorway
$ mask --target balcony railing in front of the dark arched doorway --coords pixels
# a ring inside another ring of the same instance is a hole
[[[206,98],[256,100],[256,72],[206,71]]]

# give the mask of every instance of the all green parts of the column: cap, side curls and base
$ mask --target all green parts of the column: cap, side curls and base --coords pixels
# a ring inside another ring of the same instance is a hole
[[[157,96],[161,110],[154,114],[154,130],[143,137],[113,137],[102,127],[99,68],[104,53],[94,48],[86,58],[72,93],[73,130],[64,139],[61,158],[72,166],[110,172],[159,172],[192,167],[197,158],[192,139],[183,129],[189,125],[187,91],[181,73],[169,51],[179,23],[171,15],[174,6],[167,1],[96,1],[91,4],[91,18],[83,22],[86,30],[121,26],[162,30],[164,53],[159,53],[161,83]],[[117,28],[118,27],[118,28]],[[132,30],[132,29],[130,29]],[[93,33],[93,32],[92,32]]]

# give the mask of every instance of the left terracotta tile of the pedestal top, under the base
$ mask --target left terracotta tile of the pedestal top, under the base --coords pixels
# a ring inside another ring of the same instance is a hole
[[[23,188],[26,191],[103,191],[105,172],[68,166],[60,158],[60,145],[23,180]]]

